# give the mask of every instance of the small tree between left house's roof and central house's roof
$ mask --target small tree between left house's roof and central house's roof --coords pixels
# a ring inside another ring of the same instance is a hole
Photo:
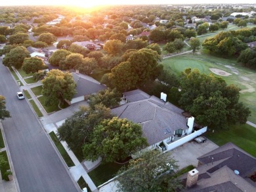
[[[89,96],[89,106],[92,109],[95,109],[97,104],[103,104],[106,107],[116,107],[121,101],[120,93],[117,92],[116,88],[105,90],[100,90],[97,94],[92,94]]]

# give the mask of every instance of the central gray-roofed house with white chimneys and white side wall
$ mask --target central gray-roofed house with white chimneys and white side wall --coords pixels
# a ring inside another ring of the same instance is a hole
[[[207,127],[193,132],[194,117],[185,117],[179,107],[164,102],[156,96],[150,96],[142,90],[123,93],[126,103],[112,108],[119,118],[126,118],[142,127],[150,148],[169,151],[194,139],[207,130]],[[161,145],[161,147],[160,147]]]

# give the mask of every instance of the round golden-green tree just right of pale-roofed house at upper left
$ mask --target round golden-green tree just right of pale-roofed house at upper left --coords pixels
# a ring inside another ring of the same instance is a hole
[[[56,50],[55,52],[53,52],[52,56],[49,58],[49,63],[52,66],[60,66],[60,67],[64,67],[66,62],[66,56],[70,55],[71,52],[69,52],[68,50],[64,50],[64,49],[59,49]]]

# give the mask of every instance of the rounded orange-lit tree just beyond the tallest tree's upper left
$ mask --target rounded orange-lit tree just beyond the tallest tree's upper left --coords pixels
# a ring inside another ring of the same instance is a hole
[[[103,50],[106,51],[108,54],[118,55],[121,54],[123,46],[124,43],[119,40],[109,40],[104,44]]]

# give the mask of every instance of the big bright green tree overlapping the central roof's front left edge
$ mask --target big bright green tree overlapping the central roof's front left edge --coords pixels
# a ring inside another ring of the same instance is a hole
[[[90,144],[83,146],[83,155],[91,161],[98,157],[105,163],[123,161],[146,145],[140,125],[113,117],[95,126]]]

